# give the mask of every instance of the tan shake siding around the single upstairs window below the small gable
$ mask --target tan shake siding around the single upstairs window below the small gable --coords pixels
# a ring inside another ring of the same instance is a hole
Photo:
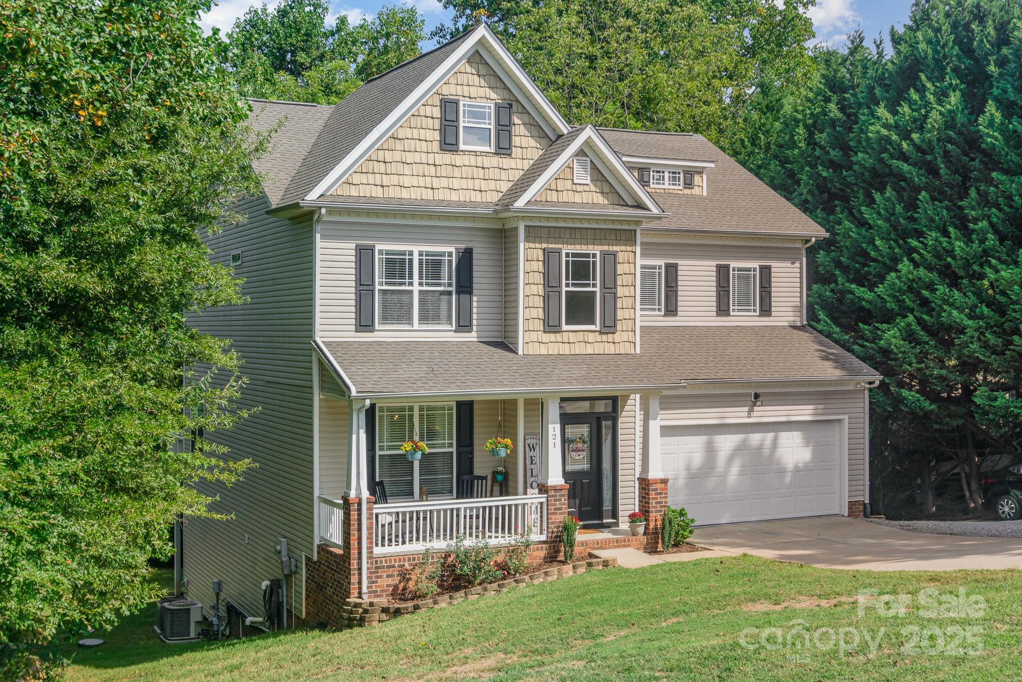
[[[617,254],[616,331],[544,331],[544,253],[547,248],[611,251]],[[635,230],[526,225],[523,352],[526,355],[635,353]]]

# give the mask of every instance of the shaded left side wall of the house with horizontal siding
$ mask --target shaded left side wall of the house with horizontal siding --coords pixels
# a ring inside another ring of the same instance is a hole
[[[213,603],[211,583],[224,581],[223,597],[248,616],[263,615],[260,584],[281,578],[277,538],[287,538],[298,559],[293,588],[295,611],[304,611],[303,554],[313,553],[313,225],[311,218],[267,216],[253,198],[238,210],[247,222],[206,238],[215,261],[229,264],[241,253],[235,274],[245,279],[249,302],[189,315],[202,331],[232,339],[248,383],[242,409],[256,409],[210,440],[230,448],[232,458],[250,458],[242,481],[231,487],[201,484],[219,496],[212,504],[228,520],[189,518],[185,525],[185,573],[190,598]]]

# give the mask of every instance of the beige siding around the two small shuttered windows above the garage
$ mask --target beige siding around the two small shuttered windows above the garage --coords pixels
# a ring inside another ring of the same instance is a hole
[[[699,241],[643,232],[643,262],[678,263],[678,316],[643,313],[651,324],[801,324],[801,243],[794,240]],[[774,311],[758,315],[716,315],[716,264],[772,267]]]

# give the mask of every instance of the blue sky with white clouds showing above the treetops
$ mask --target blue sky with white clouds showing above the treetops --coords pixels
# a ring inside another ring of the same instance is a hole
[[[217,26],[226,31],[234,24],[234,19],[261,0],[219,0],[218,4],[205,15],[202,25],[208,30]],[[374,15],[383,4],[393,4],[389,0],[334,0],[330,8],[334,16],[347,14],[358,21],[362,17]],[[783,0],[782,0],[783,1]],[[448,18],[450,12],[444,9],[438,0],[405,0],[407,4],[415,5],[426,17],[426,31]],[[268,4],[276,4],[268,0]],[[866,33],[867,44],[872,44],[873,38],[883,35],[886,41],[891,25],[898,28],[908,20],[912,0],[817,0],[817,6],[809,11],[817,30],[817,40],[832,45],[840,45],[844,37],[856,28]],[[429,47],[432,44],[430,43]],[[426,46],[424,46],[426,47]]]

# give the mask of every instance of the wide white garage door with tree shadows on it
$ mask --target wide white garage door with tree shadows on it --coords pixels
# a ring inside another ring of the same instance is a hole
[[[663,426],[667,500],[696,524],[840,512],[840,422]]]

